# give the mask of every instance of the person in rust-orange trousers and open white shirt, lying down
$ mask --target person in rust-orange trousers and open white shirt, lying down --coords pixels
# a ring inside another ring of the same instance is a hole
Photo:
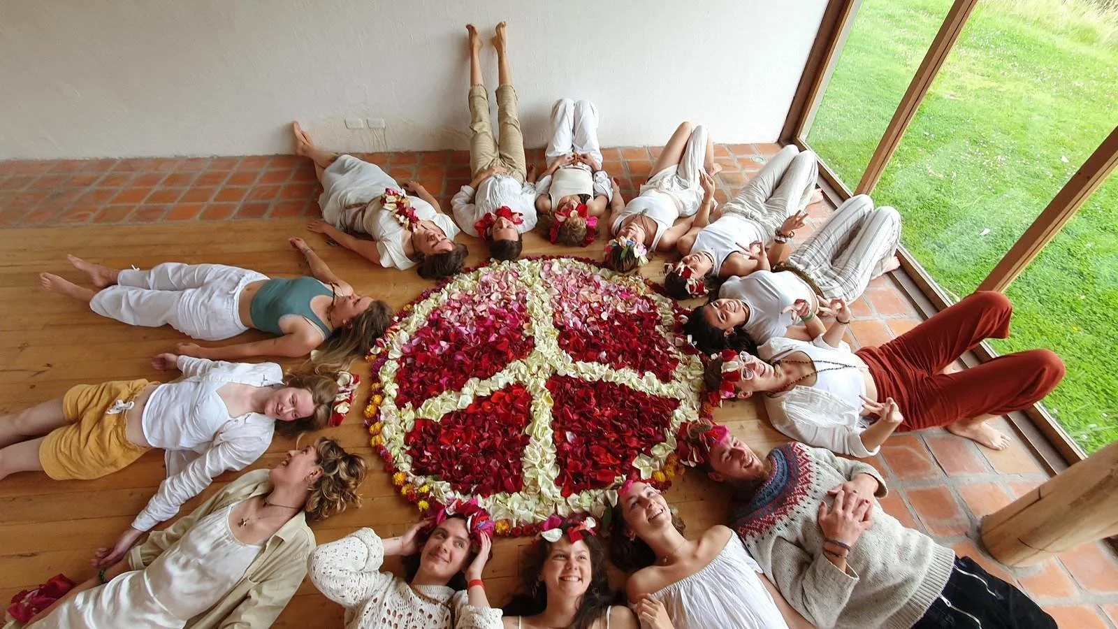
[[[764,394],[769,421],[788,436],[840,454],[872,457],[893,431],[944,426],[993,450],[1008,438],[987,421],[1029,407],[1063,378],[1049,349],[998,356],[945,373],[988,338],[1007,338],[1013,304],[979,291],[878,347],[851,351],[842,340],[850,312],[832,302],[836,319],[824,329],[809,306],[795,309],[812,341],[776,337],[758,356],[724,350],[708,363],[705,385],[720,397]]]

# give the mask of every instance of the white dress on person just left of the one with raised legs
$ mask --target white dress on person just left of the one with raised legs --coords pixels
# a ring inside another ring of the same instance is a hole
[[[416,262],[404,253],[404,227],[377,200],[385,190],[402,190],[395,179],[375,163],[353,156],[341,156],[322,172],[322,218],[339,229],[356,231],[372,236],[386,269],[410,269]],[[408,197],[420,220],[432,220],[454,240],[458,227],[454,219],[439,214],[419,197]],[[371,205],[370,205],[371,203]]]

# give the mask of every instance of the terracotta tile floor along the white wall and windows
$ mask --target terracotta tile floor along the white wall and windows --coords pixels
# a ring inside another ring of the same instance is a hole
[[[718,200],[726,201],[777,150],[776,144],[717,145],[717,161],[724,169]],[[542,153],[529,151],[529,162],[543,167]],[[612,148],[603,153],[628,198],[652,171],[660,148]],[[470,179],[465,151],[363,157],[401,182],[418,179],[444,207]],[[0,161],[0,227],[312,217],[319,216],[320,191],[310,161],[294,156]],[[824,203],[811,206],[809,228],[797,240],[832,209]],[[888,341],[920,321],[889,278],[871,282],[852,309],[849,340],[855,347]],[[1089,544],[1016,570],[1001,566],[978,548],[982,516],[1046,478],[1018,439],[995,453],[942,430],[903,434],[891,439],[871,462],[891,481],[883,507],[909,526],[1008,578],[1044,604],[1061,627],[1118,627],[1118,561],[1105,545]]]

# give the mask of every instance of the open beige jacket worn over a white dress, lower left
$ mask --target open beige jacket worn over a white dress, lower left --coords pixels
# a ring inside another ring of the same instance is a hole
[[[163,531],[155,531],[142,545],[132,548],[129,564],[142,570],[155,561],[163,551],[176,544],[196,522],[225,507],[260,496],[272,490],[268,470],[254,470],[206,500],[190,515],[180,518]],[[233,590],[205,613],[187,623],[189,629],[265,628],[271,627],[287,601],[295,594],[306,575],[306,560],[315,547],[314,533],[306,525],[303,513],[287,520],[264,545],[260,554],[249,564],[245,576]]]

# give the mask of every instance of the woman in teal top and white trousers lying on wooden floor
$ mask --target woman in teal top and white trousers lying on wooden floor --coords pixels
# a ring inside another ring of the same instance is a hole
[[[84,301],[97,314],[130,326],[167,325],[198,340],[225,340],[249,329],[276,337],[225,347],[180,342],[177,354],[211,360],[297,358],[322,347],[318,364],[326,370],[344,369],[385,334],[392,309],[354,292],[302,238],[290,243],[306,259],[314,276],[268,278],[224,264],[180,262],[122,271],[70,255],[70,263],[89,275],[96,291],[53,273],[39,278],[45,289]]]

